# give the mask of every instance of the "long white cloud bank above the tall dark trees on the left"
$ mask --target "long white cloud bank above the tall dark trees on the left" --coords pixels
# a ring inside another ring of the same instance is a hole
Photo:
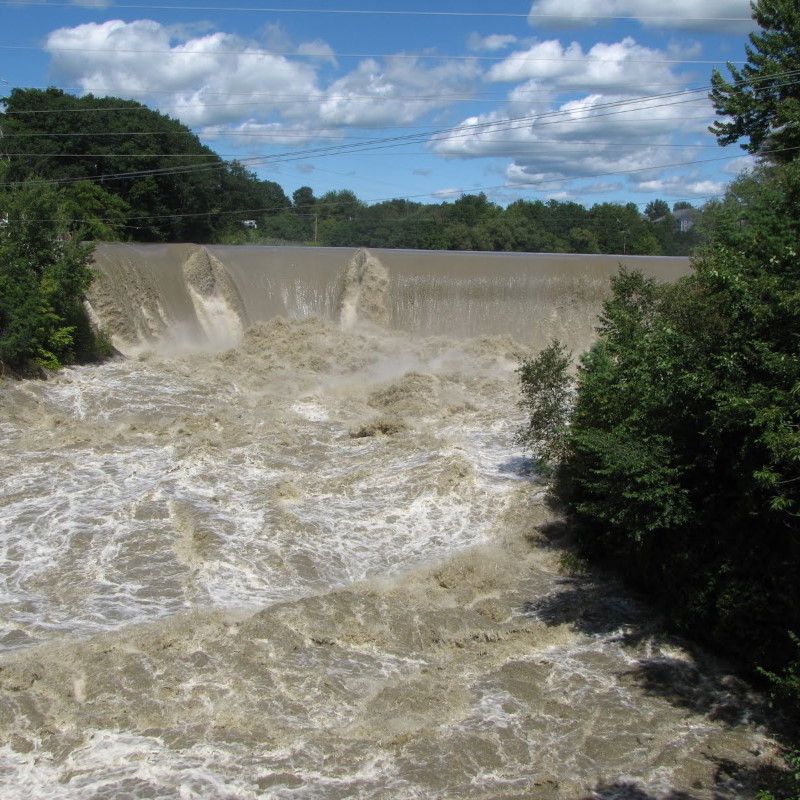
[[[297,57],[271,51],[281,29],[262,31],[268,42],[211,32],[196,35],[152,20],[110,20],[61,28],[45,45],[51,73],[83,92],[151,103],[187,125],[219,134],[226,127],[298,142],[330,136],[343,126],[413,123],[467,95],[481,78],[474,59],[423,62],[402,55],[362,60],[330,82],[336,68],[326,42],[304,42]],[[153,92],[158,87],[158,92]],[[263,142],[262,142],[263,143]]]

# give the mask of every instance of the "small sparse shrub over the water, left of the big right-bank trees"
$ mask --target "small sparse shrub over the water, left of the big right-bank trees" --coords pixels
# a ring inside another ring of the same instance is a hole
[[[558,341],[535,358],[525,358],[517,368],[522,400],[529,415],[516,441],[531,450],[543,465],[559,461],[566,452],[571,409],[572,355]]]

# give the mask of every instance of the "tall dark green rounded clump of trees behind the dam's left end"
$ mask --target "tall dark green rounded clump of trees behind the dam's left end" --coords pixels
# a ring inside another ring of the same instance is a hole
[[[17,153],[5,181],[63,182],[66,213],[89,239],[217,241],[290,205],[278,184],[140,103],[53,88],[14,89],[2,102]]]

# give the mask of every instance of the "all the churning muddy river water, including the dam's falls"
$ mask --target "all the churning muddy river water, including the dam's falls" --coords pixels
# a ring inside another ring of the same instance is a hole
[[[616,262],[98,248],[126,357],[0,383],[4,800],[754,796],[758,698],[513,445]]]

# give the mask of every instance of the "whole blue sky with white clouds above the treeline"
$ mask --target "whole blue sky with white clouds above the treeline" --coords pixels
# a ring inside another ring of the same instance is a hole
[[[138,100],[290,196],[700,204],[749,164],[706,97],[745,58],[748,0],[17,0],[0,20],[4,89]]]

